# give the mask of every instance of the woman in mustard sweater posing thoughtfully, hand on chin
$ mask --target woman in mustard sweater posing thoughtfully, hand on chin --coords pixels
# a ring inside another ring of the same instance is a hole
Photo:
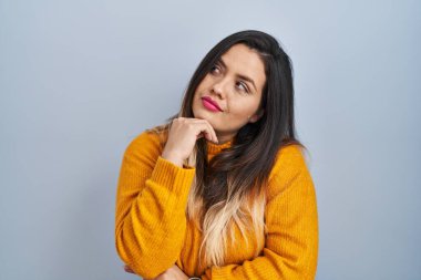
[[[288,55],[232,34],[195,71],[179,113],[124,153],[115,241],[145,279],[314,279],[318,220],[294,128]]]

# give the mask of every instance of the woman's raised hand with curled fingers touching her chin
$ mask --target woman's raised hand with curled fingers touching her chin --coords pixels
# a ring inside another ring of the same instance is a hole
[[[214,143],[218,142],[214,128],[206,120],[191,117],[174,118],[162,157],[178,166],[183,166],[183,160],[188,158],[197,138],[201,137],[205,137]]]

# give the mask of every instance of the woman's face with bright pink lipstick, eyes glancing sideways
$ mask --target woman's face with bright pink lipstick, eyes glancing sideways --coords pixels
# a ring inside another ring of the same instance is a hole
[[[227,142],[239,128],[263,115],[258,108],[265,82],[265,65],[257,52],[245,44],[235,44],[197,86],[194,117],[208,121],[219,143]]]

